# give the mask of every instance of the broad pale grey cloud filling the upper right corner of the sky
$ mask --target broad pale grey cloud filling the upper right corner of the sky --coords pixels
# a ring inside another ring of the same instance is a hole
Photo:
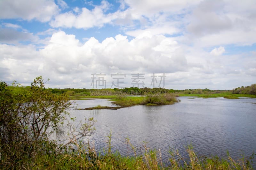
[[[256,43],[255,1],[202,1],[187,14],[187,42],[199,47]]]

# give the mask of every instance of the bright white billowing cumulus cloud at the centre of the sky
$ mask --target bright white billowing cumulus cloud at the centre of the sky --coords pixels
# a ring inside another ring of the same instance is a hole
[[[90,69],[96,72],[176,72],[187,69],[186,58],[178,48],[177,42],[161,35],[143,34],[129,41],[127,36],[119,34],[102,43],[92,37],[81,44],[74,35],[59,31],[40,52],[59,73]]]

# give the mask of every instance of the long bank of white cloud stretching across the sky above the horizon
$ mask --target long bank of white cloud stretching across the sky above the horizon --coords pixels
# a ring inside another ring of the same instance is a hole
[[[34,46],[1,45],[0,71],[8,75],[5,80],[29,83],[42,75],[51,79],[49,86],[52,88],[92,88],[92,73],[101,72],[108,76],[124,73],[128,81],[126,85],[131,86],[131,73],[139,72],[146,73],[145,83],[149,86],[149,74],[165,73],[166,88],[225,89],[228,87],[225,83],[231,81],[232,76],[248,81],[255,74],[255,66],[246,65],[252,61],[254,53],[243,59],[235,55],[219,60],[225,51],[220,46],[212,50],[214,58],[205,57],[209,53],[198,53],[192,47],[186,49],[190,51],[188,54],[175,38],[150,32],[131,41],[119,34],[106,38],[102,43],[92,37],[82,44],[75,35],[58,31],[46,44],[39,51]],[[110,81],[110,77],[107,80]]]

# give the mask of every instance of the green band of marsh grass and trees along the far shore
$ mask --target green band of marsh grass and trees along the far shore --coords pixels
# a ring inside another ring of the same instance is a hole
[[[123,89],[49,89],[55,94],[67,94],[71,100],[87,100],[88,98],[116,99],[117,96],[161,96],[174,93],[175,96],[193,97],[225,97],[227,99],[238,99],[239,97],[256,98],[256,84],[251,86],[237,87],[233,90],[210,90],[210,89],[186,89],[173,90],[164,88],[138,88],[129,87]],[[136,103],[136,102],[135,102]],[[139,103],[137,103],[139,104]]]

